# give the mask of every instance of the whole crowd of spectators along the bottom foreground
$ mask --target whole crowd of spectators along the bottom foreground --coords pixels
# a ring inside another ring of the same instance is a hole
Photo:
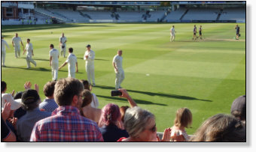
[[[47,82],[43,102],[34,86],[26,82],[25,91],[7,94],[2,81],[2,142],[246,142],[245,96],[233,101],[231,115],[213,115],[193,135],[185,130],[192,124],[192,112],[178,109],[174,125],[160,139],[154,114],[140,108],[124,88],[118,90],[129,106],[108,103],[99,109],[87,80]]]

